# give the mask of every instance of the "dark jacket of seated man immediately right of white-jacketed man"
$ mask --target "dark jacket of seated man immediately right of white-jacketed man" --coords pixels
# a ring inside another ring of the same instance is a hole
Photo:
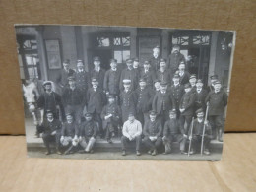
[[[148,120],[146,121],[144,128],[143,128],[143,134],[145,137],[161,137],[162,134],[162,126],[159,120],[151,121]]]

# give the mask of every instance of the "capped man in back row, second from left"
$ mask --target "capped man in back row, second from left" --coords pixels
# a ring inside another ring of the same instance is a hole
[[[77,60],[77,70],[74,74],[74,78],[76,81],[76,87],[81,90],[84,96],[86,96],[90,79],[82,60]]]

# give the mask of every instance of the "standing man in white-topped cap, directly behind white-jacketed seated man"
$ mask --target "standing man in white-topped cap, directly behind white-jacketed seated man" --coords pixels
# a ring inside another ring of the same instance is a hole
[[[135,113],[136,96],[131,89],[131,80],[123,80],[124,90],[120,94],[120,105],[122,110],[122,122],[128,119],[129,112]]]

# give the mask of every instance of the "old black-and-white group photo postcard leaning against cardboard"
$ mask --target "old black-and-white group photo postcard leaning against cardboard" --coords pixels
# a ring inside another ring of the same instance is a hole
[[[235,32],[15,30],[29,157],[221,159]]]

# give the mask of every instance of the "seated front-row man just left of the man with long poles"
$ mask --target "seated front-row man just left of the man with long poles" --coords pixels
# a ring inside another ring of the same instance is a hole
[[[173,110],[169,111],[169,120],[165,122],[164,130],[163,130],[163,137],[162,141],[165,146],[165,152],[163,154],[169,154],[171,153],[172,146],[171,144],[173,142],[179,142],[180,143],[180,152],[181,154],[185,153],[185,145],[186,145],[186,138],[184,135],[184,130],[179,125],[179,122],[177,120],[176,112]]]

